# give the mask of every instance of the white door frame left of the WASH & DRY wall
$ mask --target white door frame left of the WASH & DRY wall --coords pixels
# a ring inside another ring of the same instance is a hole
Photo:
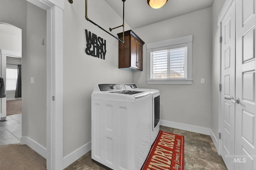
[[[46,10],[46,168],[63,169],[63,0],[27,0]]]

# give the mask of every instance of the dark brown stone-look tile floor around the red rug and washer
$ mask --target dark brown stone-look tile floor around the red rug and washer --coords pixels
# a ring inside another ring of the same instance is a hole
[[[209,135],[160,126],[160,130],[184,135],[185,170],[227,170]],[[106,170],[92,162],[91,151],[64,170]]]

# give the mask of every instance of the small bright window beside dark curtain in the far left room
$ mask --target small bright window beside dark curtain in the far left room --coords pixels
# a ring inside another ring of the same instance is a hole
[[[6,67],[6,91],[16,91],[18,68]]]

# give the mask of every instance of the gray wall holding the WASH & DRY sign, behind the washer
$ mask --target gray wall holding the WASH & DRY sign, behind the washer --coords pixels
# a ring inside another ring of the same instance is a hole
[[[122,3],[121,1],[116,3]],[[132,82],[132,72],[118,68],[118,40],[84,18],[85,1],[65,0],[63,18],[63,155],[91,141],[91,94],[98,83]],[[88,1],[88,18],[104,29],[122,24],[122,18],[104,0]],[[125,29],[130,27],[125,25]],[[106,59],[85,53],[85,29],[106,39]],[[112,31],[114,35],[122,28]]]

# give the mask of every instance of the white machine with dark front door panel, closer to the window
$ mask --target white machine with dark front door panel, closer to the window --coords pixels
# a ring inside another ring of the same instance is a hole
[[[134,91],[144,91],[150,92],[152,94],[152,123],[151,123],[151,145],[156,140],[156,137],[160,130],[160,91],[156,89],[150,88],[138,88],[134,83],[127,83],[123,84],[124,88],[127,90],[134,90]]]

